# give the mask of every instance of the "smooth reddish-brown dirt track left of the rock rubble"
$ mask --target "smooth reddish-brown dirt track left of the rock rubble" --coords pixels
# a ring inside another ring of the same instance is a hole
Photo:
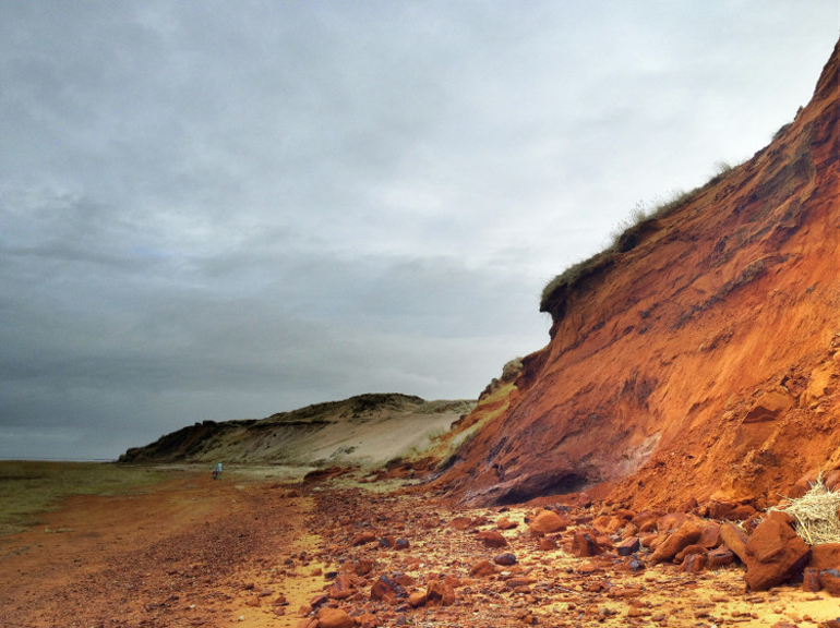
[[[0,539],[0,626],[295,626],[286,609],[323,578],[309,577],[312,500],[289,493],[202,475],[73,497]]]

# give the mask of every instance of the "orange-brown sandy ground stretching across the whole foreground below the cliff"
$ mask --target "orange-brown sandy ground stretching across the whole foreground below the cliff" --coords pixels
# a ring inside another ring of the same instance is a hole
[[[308,620],[300,608],[333,591],[337,577],[350,590],[326,603],[379,626],[710,628],[787,620],[804,628],[840,616],[840,599],[795,585],[746,593],[741,567],[694,576],[660,565],[634,573],[627,558],[613,554],[580,559],[540,550],[525,524],[530,509],[454,512],[429,495],[349,484],[248,475],[213,482],[201,474],[134,495],[70,498],[44,526],[0,540],[0,626],[297,627]],[[465,516],[473,524],[452,524]],[[507,546],[477,541],[501,517],[516,523],[501,531]],[[557,538],[561,545],[571,532]],[[362,533],[375,540],[358,543]],[[408,547],[379,542],[388,536]],[[476,563],[502,552],[516,564],[469,576]],[[372,568],[358,575],[364,561]],[[371,601],[381,576],[400,578],[406,594],[448,577],[454,603]]]

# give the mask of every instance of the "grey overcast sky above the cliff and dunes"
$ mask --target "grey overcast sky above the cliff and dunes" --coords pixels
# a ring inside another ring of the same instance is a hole
[[[805,105],[837,0],[0,0],[0,458],[476,397],[637,202]]]

